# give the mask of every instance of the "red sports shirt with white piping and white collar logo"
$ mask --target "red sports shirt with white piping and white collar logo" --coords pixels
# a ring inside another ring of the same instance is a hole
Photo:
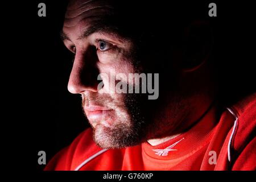
[[[86,129],[45,170],[256,170],[256,94],[227,108],[218,122],[212,114],[157,146],[104,150]]]

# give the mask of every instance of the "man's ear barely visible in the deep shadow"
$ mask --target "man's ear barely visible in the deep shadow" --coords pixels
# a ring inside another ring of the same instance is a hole
[[[185,29],[181,67],[184,72],[195,71],[208,59],[213,47],[208,22],[194,21]]]

